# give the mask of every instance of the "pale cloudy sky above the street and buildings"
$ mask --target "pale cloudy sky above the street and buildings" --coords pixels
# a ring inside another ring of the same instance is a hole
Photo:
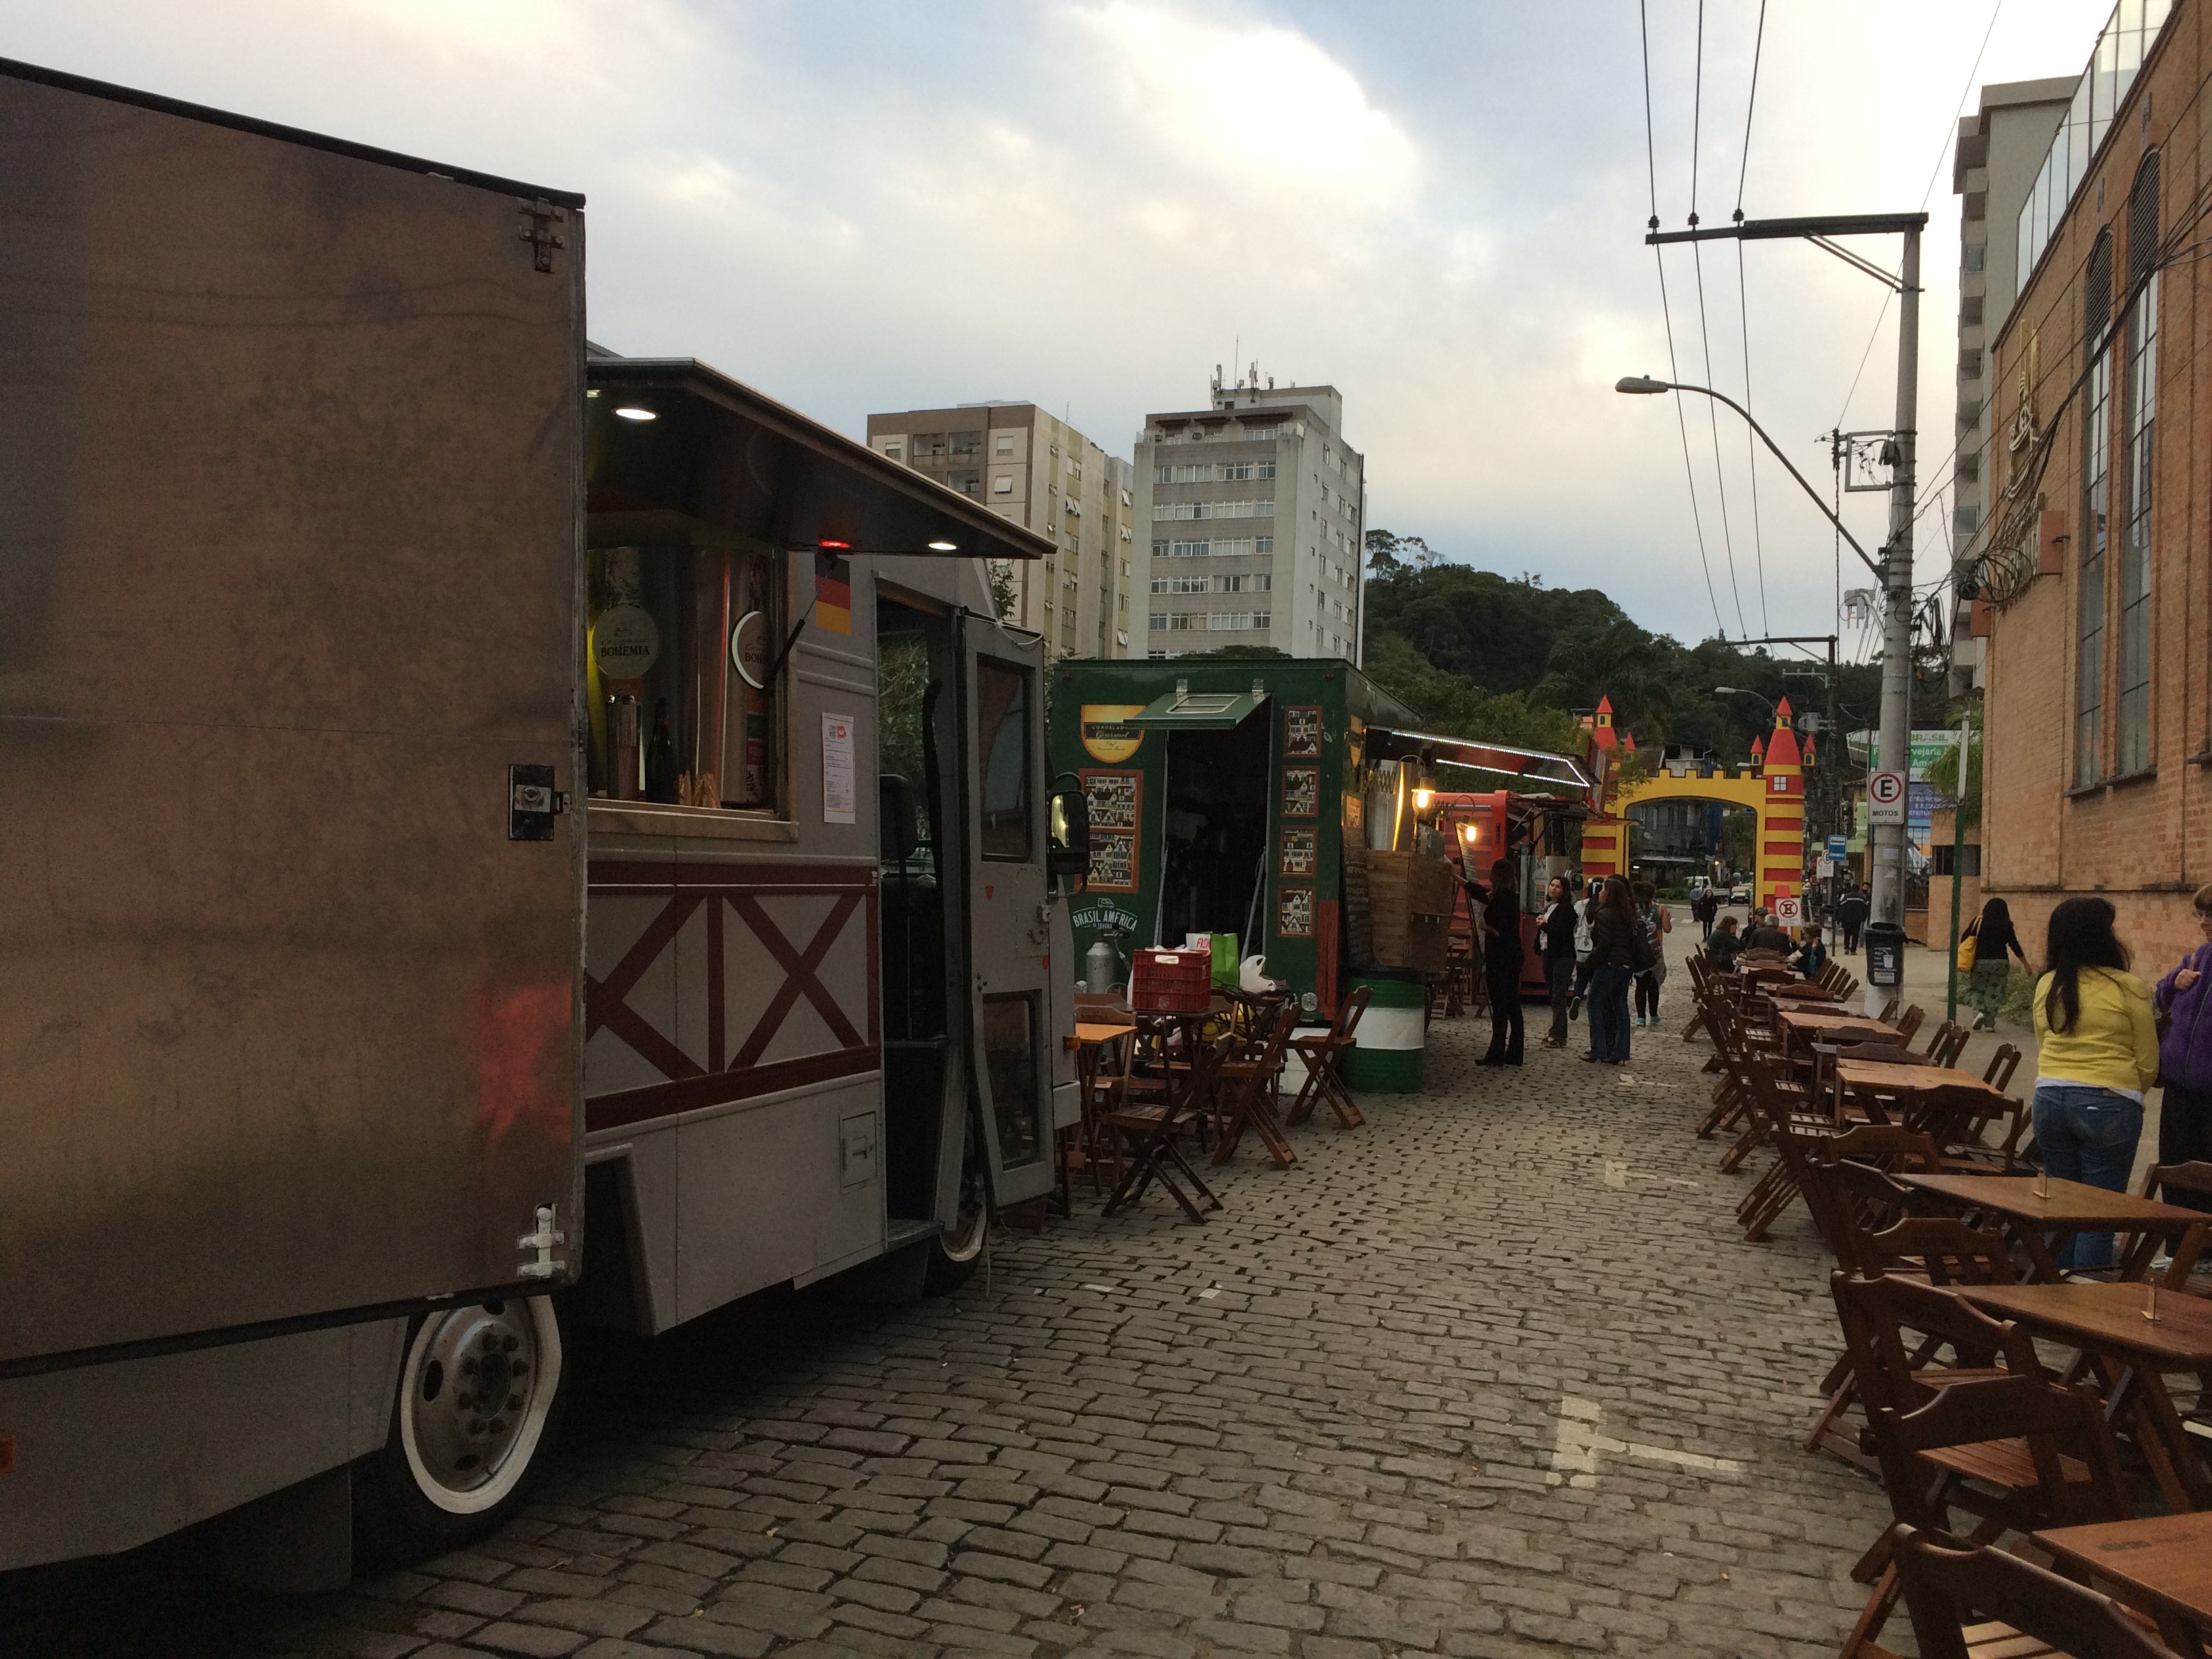
[[[1708,223],[1739,175],[1750,217],[1927,197],[1924,484],[1955,405],[1955,117],[1982,82],[2077,73],[2108,9],[1778,0],[1745,157],[1761,0],[1703,4],[1701,75],[1697,0],[1648,0],[1670,228],[1692,153]],[[1705,400],[1686,400],[1701,566],[1672,400],[1610,389],[1668,374],[1637,18],[1628,0],[0,0],[0,55],[582,190],[595,338],[706,358],[856,436],[869,409],[1035,398],[1126,456],[1146,409],[1256,358],[1343,389],[1371,526],[1604,586],[1681,637],[1827,633],[1832,535],[1772,462],[1754,529],[1741,425],[1719,411],[1717,473]],[[1876,334],[1882,290],[1803,243],[1747,246],[1739,299],[1736,252],[1705,250],[1703,327],[1699,270],[1668,254],[1681,378],[1708,372],[1710,334],[1712,383],[1741,396],[1747,338],[1752,407],[1825,489],[1814,434],[1889,425],[1893,307]],[[1876,544],[1880,498],[1849,513]],[[1922,518],[1938,557],[1944,518]]]

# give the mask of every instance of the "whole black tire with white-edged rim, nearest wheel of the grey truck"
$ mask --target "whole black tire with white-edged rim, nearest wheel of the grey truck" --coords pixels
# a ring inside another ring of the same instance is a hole
[[[529,1495],[566,1405],[551,1296],[425,1314],[407,1334],[392,1431],[354,1478],[354,1546],[389,1566],[495,1531]]]

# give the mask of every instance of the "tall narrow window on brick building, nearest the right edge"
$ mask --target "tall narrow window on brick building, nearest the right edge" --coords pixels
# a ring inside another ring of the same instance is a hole
[[[2121,385],[2119,732],[2112,770],[2150,768],[2150,467],[2159,414],[2159,153],[2143,157],[2128,192],[2128,276],[2143,283],[2128,312]]]

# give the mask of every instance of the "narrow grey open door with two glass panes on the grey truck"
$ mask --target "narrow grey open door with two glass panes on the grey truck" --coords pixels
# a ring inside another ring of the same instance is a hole
[[[1053,1188],[1044,641],[962,613],[960,681],[971,1077],[991,1190],[1004,1206]]]

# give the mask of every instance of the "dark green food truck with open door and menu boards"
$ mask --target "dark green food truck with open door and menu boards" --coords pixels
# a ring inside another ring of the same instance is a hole
[[[1307,1020],[1334,1018],[1354,967],[1365,978],[1389,956],[1367,949],[1358,914],[1376,852],[1460,863],[1433,825],[1438,765],[1564,787],[1571,799],[1526,805],[1586,816],[1586,763],[1420,732],[1340,657],[1071,657],[1051,681],[1055,787],[1079,781],[1091,805],[1068,967],[1091,991],[1126,984],[1135,949],[1228,933],[1239,960],[1265,956]],[[1526,825],[1520,838],[1544,843]],[[1367,849],[1358,869],[1347,847]],[[1442,969],[1444,933],[1431,940]]]

